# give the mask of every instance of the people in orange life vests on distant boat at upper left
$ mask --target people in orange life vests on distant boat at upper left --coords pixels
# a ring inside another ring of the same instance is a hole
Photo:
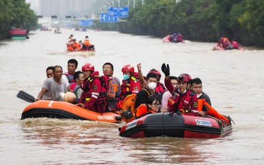
[[[92,44],[91,40],[89,40],[88,35],[85,36],[85,40],[83,40],[83,42],[81,40],[76,42],[76,39],[71,34],[70,37],[68,37],[66,46],[67,50],[70,52],[79,50],[95,50],[94,45]]]

